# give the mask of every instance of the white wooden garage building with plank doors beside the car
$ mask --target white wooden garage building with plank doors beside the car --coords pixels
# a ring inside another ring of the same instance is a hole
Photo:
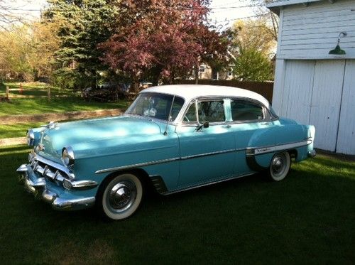
[[[317,148],[354,155],[355,1],[284,0],[268,9],[280,16],[273,108],[315,125]],[[346,54],[329,54],[338,37]]]

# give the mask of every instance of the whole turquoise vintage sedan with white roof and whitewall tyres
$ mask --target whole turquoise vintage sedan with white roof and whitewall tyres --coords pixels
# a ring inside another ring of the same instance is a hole
[[[149,186],[168,195],[256,172],[278,181],[291,158],[315,156],[314,126],[278,117],[260,94],[206,85],[150,87],[119,117],[50,122],[27,138],[26,190],[113,220],[136,212]]]

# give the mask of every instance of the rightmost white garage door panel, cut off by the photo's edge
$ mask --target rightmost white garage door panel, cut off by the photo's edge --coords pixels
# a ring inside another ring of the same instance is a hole
[[[355,154],[355,60],[346,60],[337,152]]]

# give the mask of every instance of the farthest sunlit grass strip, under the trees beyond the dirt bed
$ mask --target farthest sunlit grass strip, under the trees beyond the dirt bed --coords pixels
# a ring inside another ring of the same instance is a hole
[[[18,85],[11,83],[11,87],[18,87]],[[43,86],[30,86],[28,87],[28,90],[32,93],[40,93],[41,87]],[[4,85],[1,85],[0,93],[4,93],[4,90]],[[57,93],[65,94],[67,97],[53,97],[50,102],[48,102],[48,99],[45,97],[12,98],[9,103],[0,102],[0,116],[16,114],[43,114],[48,112],[89,111],[97,109],[126,109],[129,106],[129,102],[124,100],[109,103],[94,101],[87,102],[68,90],[58,90],[57,88],[53,88],[53,90],[57,91]],[[44,93],[45,95],[47,94],[47,92]]]

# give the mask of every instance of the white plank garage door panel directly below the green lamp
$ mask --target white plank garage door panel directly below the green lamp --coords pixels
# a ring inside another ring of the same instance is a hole
[[[315,125],[315,146],[335,151],[345,60],[317,60],[313,82],[310,124]]]

